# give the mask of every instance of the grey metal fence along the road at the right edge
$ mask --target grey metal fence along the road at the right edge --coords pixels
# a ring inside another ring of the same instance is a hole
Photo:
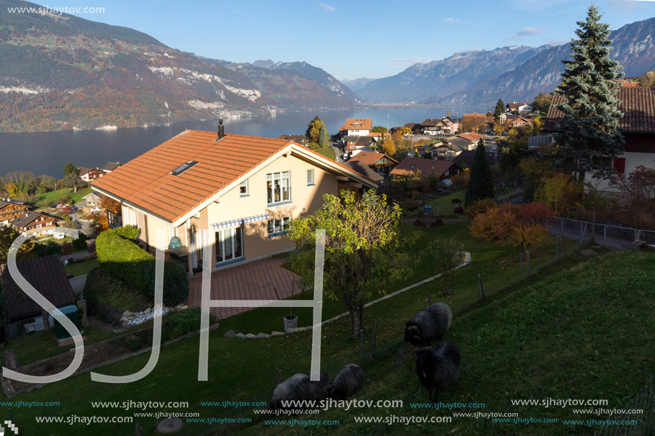
[[[559,230],[559,233],[565,235],[566,238],[579,237],[579,241],[583,242],[591,238],[593,227],[593,223],[589,221],[555,217],[554,225],[551,229]],[[604,244],[609,241],[615,244],[628,245],[635,240],[643,240],[646,243],[655,244],[655,231],[621,225],[596,223],[594,235],[596,236],[597,242]]]

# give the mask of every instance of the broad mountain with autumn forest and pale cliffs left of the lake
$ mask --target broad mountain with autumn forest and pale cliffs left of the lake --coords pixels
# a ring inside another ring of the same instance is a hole
[[[39,5],[0,0],[0,10]],[[342,83],[304,62],[261,69],[171,49],[121,26],[0,14],[0,131],[153,126],[350,108]]]

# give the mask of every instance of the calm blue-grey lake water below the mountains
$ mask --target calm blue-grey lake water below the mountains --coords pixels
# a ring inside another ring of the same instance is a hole
[[[473,109],[451,110],[454,118]],[[226,119],[226,133],[268,136],[304,134],[307,124],[318,115],[332,135],[346,118],[372,118],[374,126],[402,126],[420,123],[426,118],[446,116],[446,108],[376,108],[345,111],[283,113],[271,117]],[[389,117],[387,117],[389,116]],[[66,162],[96,168],[107,162],[125,163],[158,146],[187,128],[216,131],[217,120],[178,123],[149,128],[119,128],[113,131],[60,131],[36,133],[0,133],[0,176],[9,171],[29,171],[63,176]]]

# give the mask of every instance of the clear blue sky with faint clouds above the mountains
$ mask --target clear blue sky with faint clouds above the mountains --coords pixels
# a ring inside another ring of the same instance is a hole
[[[391,76],[467,50],[564,44],[586,0],[36,1],[104,7],[85,19],[131,27],[174,49],[233,62],[307,61],[338,79]],[[611,29],[655,16],[655,0],[596,0]]]

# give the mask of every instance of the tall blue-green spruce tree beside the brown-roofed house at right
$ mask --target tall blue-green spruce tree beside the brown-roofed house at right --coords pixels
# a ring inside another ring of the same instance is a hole
[[[590,6],[586,21],[578,21],[578,39],[571,41],[571,60],[556,91],[564,97],[557,106],[564,116],[557,124],[554,163],[584,180],[586,171],[595,178],[609,178],[612,160],[624,153],[619,132],[619,101],[614,80],[622,68],[609,57],[609,24],[600,23],[596,6]]]

